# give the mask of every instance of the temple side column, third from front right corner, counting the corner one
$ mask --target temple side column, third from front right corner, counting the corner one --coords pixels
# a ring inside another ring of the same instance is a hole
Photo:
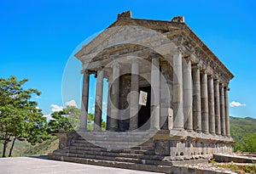
[[[200,67],[192,67],[193,74],[193,128],[196,132],[201,132],[201,83]]]

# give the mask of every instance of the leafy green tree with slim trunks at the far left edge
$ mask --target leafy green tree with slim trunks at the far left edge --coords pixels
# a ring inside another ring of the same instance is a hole
[[[16,139],[26,139],[29,143],[42,142],[48,138],[45,127],[46,118],[37,103],[32,101],[32,95],[40,95],[37,89],[24,89],[28,81],[18,81],[15,76],[9,79],[0,78],[0,140],[3,143],[3,157],[11,138],[12,149]]]

